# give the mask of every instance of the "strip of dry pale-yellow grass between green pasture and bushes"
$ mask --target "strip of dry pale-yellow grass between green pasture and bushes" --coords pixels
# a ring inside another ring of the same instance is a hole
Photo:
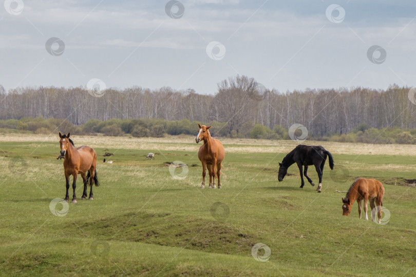
[[[129,136],[90,136],[72,135],[75,145],[89,145],[108,149],[157,149],[159,151],[197,151],[201,144],[196,144],[194,136],[166,136],[154,137],[129,137]],[[42,147],[44,142],[56,142],[58,134],[0,134],[2,142],[33,142],[33,147]],[[231,153],[287,153],[292,150],[297,142],[294,141],[270,141],[253,140],[242,138],[220,138],[224,144],[225,151]],[[364,143],[335,143],[305,141],[306,145],[322,145],[333,154],[354,154],[354,155],[407,155],[416,156],[416,145],[401,144],[364,144]]]

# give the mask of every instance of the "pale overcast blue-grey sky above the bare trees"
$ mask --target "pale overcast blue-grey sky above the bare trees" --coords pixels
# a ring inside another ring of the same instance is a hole
[[[416,83],[414,0],[2,2],[6,90],[98,78],[215,93],[237,74],[281,92]],[[373,45],[381,49],[368,55]]]

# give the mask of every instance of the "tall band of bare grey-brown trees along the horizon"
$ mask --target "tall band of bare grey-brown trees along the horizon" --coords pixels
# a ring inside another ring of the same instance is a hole
[[[94,97],[82,87],[25,87],[6,93],[0,86],[0,119],[67,118],[76,126],[91,118],[224,122],[225,135],[242,137],[255,124],[272,131],[275,126],[287,129],[298,123],[315,138],[339,135],[349,139],[347,134],[361,124],[375,129],[416,128],[416,105],[409,101],[408,92],[408,87],[392,85],[387,90],[357,87],[282,93],[263,88],[246,76],[218,83],[215,95],[198,94],[192,89],[131,87],[107,89],[102,97]],[[152,127],[146,128],[152,132]]]

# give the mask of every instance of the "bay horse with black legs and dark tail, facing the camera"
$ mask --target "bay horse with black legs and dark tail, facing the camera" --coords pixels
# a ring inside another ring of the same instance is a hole
[[[65,181],[66,181],[66,195],[65,201],[69,200],[69,175],[73,176],[72,182],[72,203],[77,203],[77,195],[75,195],[75,188],[77,187],[77,176],[81,174],[82,180],[84,181],[84,192],[81,199],[84,200],[87,198],[87,185],[89,179],[89,186],[91,190],[89,192],[89,200],[93,200],[92,196],[92,180],[96,184],[96,187],[100,185],[97,177],[97,153],[94,149],[89,146],[83,145],[81,147],[75,148],[72,140],[69,138],[69,133],[61,134],[59,133],[61,140],[59,144],[61,146],[61,156],[65,156],[64,159],[64,171],[65,171]],[[87,176],[85,173],[88,172]]]

